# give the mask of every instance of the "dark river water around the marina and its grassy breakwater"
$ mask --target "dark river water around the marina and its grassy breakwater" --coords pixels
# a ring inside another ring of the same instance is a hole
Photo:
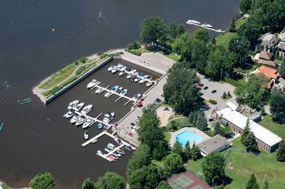
[[[33,96],[33,86],[81,56],[138,39],[140,22],[147,16],[180,23],[195,19],[225,29],[236,14],[238,0],[1,0],[0,122],[5,126],[0,133],[0,180],[21,187],[36,173],[49,171],[57,188],[79,188],[84,178],[96,180],[107,170],[125,175],[130,153],[116,163],[105,162],[95,155],[101,145],[82,148],[83,131],[62,118],[74,98],[100,106],[103,98],[93,99],[85,88],[88,81],[48,106]],[[95,74],[104,84],[117,81],[105,72]],[[133,86],[136,90],[141,88]],[[29,97],[33,103],[16,104]],[[123,101],[115,106],[113,101],[115,97],[108,99],[102,111],[115,110],[120,118],[130,107],[119,108]],[[95,109],[93,116],[99,111]],[[98,132],[93,129],[90,132]]]

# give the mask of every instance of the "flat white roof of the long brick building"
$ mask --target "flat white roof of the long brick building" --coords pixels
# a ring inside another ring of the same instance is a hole
[[[242,130],[244,130],[244,127],[247,123],[247,116],[244,116],[242,113],[239,113],[237,111],[233,111],[231,108],[224,108],[222,111],[218,111],[217,115],[233,123],[235,126],[241,128]],[[255,123],[252,120],[249,121],[249,128],[257,139],[269,146],[273,146],[282,140],[275,133],[272,133],[268,129],[260,126],[258,123]]]

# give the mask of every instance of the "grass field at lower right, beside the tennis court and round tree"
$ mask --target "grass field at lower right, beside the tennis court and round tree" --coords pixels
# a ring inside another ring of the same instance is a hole
[[[222,152],[227,155],[227,150]],[[285,164],[277,162],[276,153],[266,153],[261,151],[259,155],[246,153],[240,143],[240,138],[233,141],[233,147],[230,148],[229,157],[225,163],[225,172],[232,183],[225,186],[225,189],[242,189],[245,188],[250,175],[254,173],[257,176],[257,182],[261,188],[265,180],[269,182],[269,188],[284,188],[285,180]],[[201,163],[203,159],[187,163],[187,170],[192,173],[202,173]]]

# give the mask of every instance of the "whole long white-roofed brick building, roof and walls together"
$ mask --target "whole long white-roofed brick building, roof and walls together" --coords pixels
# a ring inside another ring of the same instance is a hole
[[[242,133],[247,123],[247,116],[232,110],[232,108],[224,108],[222,111],[217,111],[217,119],[237,133]],[[279,136],[252,120],[249,121],[249,128],[254,133],[259,148],[269,153],[278,148],[278,144],[282,140]]]

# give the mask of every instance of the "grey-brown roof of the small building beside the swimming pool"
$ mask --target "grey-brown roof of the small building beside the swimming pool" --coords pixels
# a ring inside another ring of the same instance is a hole
[[[219,148],[223,148],[226,145],[229,145],[229,141],[220,135],[213,136],[207,141],[198,144],[200,150],[207,155],[218,150]]]

